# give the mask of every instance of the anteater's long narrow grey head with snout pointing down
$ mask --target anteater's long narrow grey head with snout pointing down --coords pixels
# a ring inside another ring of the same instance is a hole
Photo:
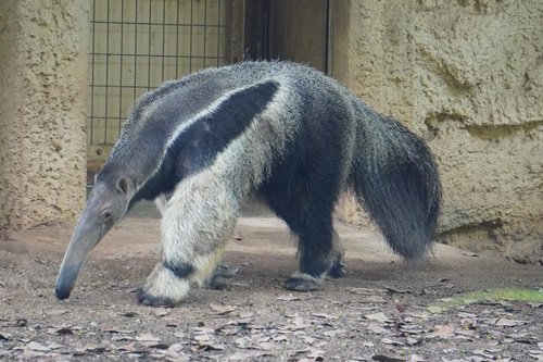
[[[128,210],[135,185],[130,177],[104,167],[87,200],[56,278],[55,295],[66,299],[89,252]]]

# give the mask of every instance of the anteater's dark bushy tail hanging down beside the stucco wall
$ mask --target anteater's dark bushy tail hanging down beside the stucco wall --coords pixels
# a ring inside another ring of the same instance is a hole
[[[435,236],[441,184],[426,143],[396,121],[362,107],[351,184],[392,250],[421,259]]]

